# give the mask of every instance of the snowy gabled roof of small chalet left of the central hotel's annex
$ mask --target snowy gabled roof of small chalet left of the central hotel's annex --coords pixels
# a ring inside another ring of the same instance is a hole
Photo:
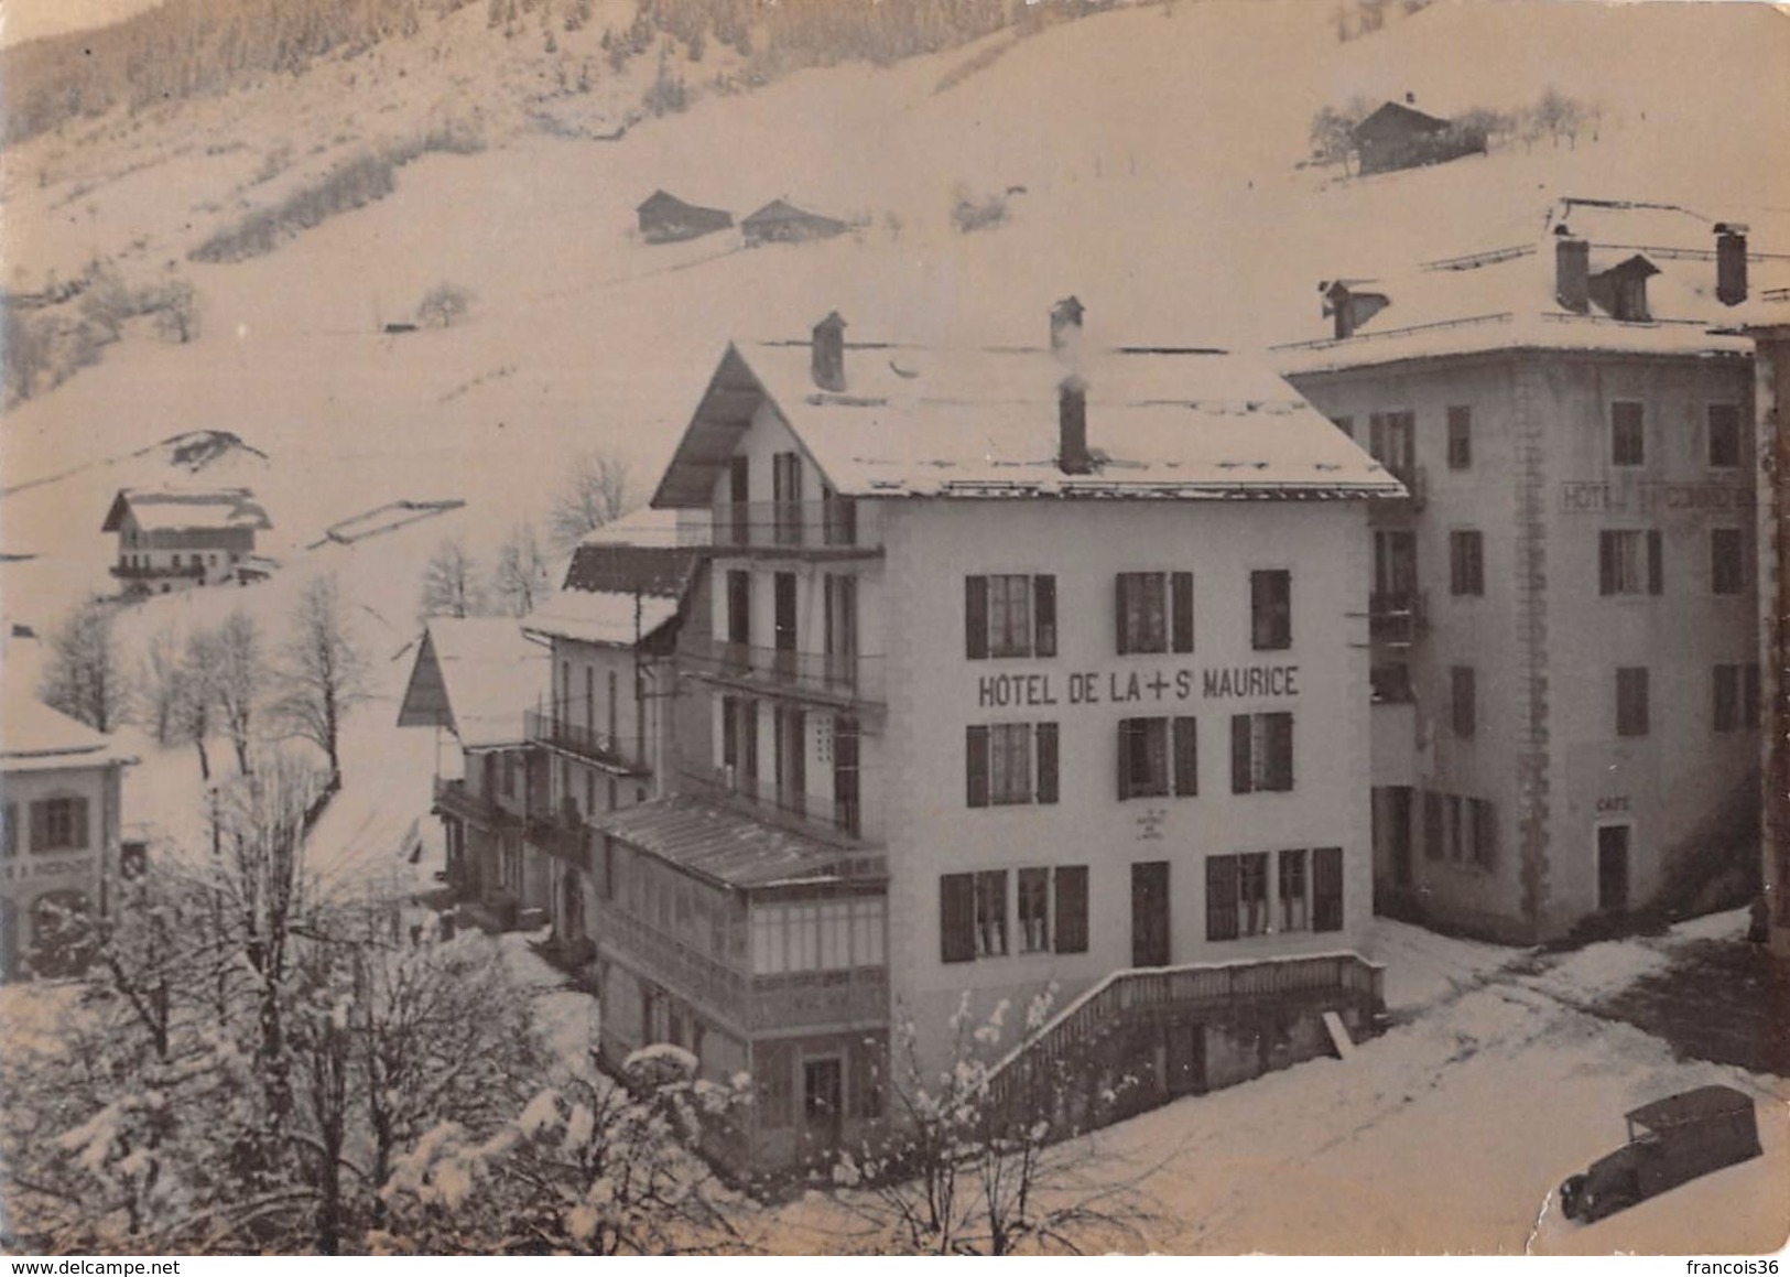
[[[523,711],[551,686],[548,652],[510,616],[431,620],[397,713],[399,727],[440,725],[462,749],[526,740]]]

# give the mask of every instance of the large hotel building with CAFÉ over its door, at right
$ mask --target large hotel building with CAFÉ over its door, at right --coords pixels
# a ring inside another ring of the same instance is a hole
[[[1373,519],[1382,908],[1534,940],[1758,845],[1745,227],[1563,201],[1539,244],[1334,281],[1282,371],[1403,478]]]

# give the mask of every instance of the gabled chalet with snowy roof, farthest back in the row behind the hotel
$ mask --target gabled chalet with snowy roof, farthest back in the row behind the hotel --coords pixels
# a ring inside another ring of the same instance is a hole
[[[548,679],[546,652],[514,618],[435,618],[397,711],[399,727],[448,731],[460,747],[448,767],[437,758],[448,776],[437,774],[435,813],[453,903],[490,930],[544,917],[551,903],[551,883],[523,851],[526,820],[548,811],[524,722]]]

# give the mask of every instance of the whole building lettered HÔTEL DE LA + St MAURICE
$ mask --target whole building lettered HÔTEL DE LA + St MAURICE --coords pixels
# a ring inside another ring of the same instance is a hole
[[[863,1136],[891,1033],[943,1062],[965,992],[1013,999],[1006,1050],[1104,987],[1049,1032],[1144,1101],[1378,1008],[1362,503],[1402,489],[1271,373],[1079,321],[729,347],[659,484],[712,525],[712,620],[677,792],[591,817],[603,1050],[750,1073],[736,1166]]]

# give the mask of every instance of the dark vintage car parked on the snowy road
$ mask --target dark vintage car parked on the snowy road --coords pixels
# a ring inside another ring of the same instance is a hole
[[[1641,1105],[1629,1143],[1561,1184],[1568,1220],[1590,1223],[1627,1205],[1760,1155],[1752,1098],[1709,1085]]]

